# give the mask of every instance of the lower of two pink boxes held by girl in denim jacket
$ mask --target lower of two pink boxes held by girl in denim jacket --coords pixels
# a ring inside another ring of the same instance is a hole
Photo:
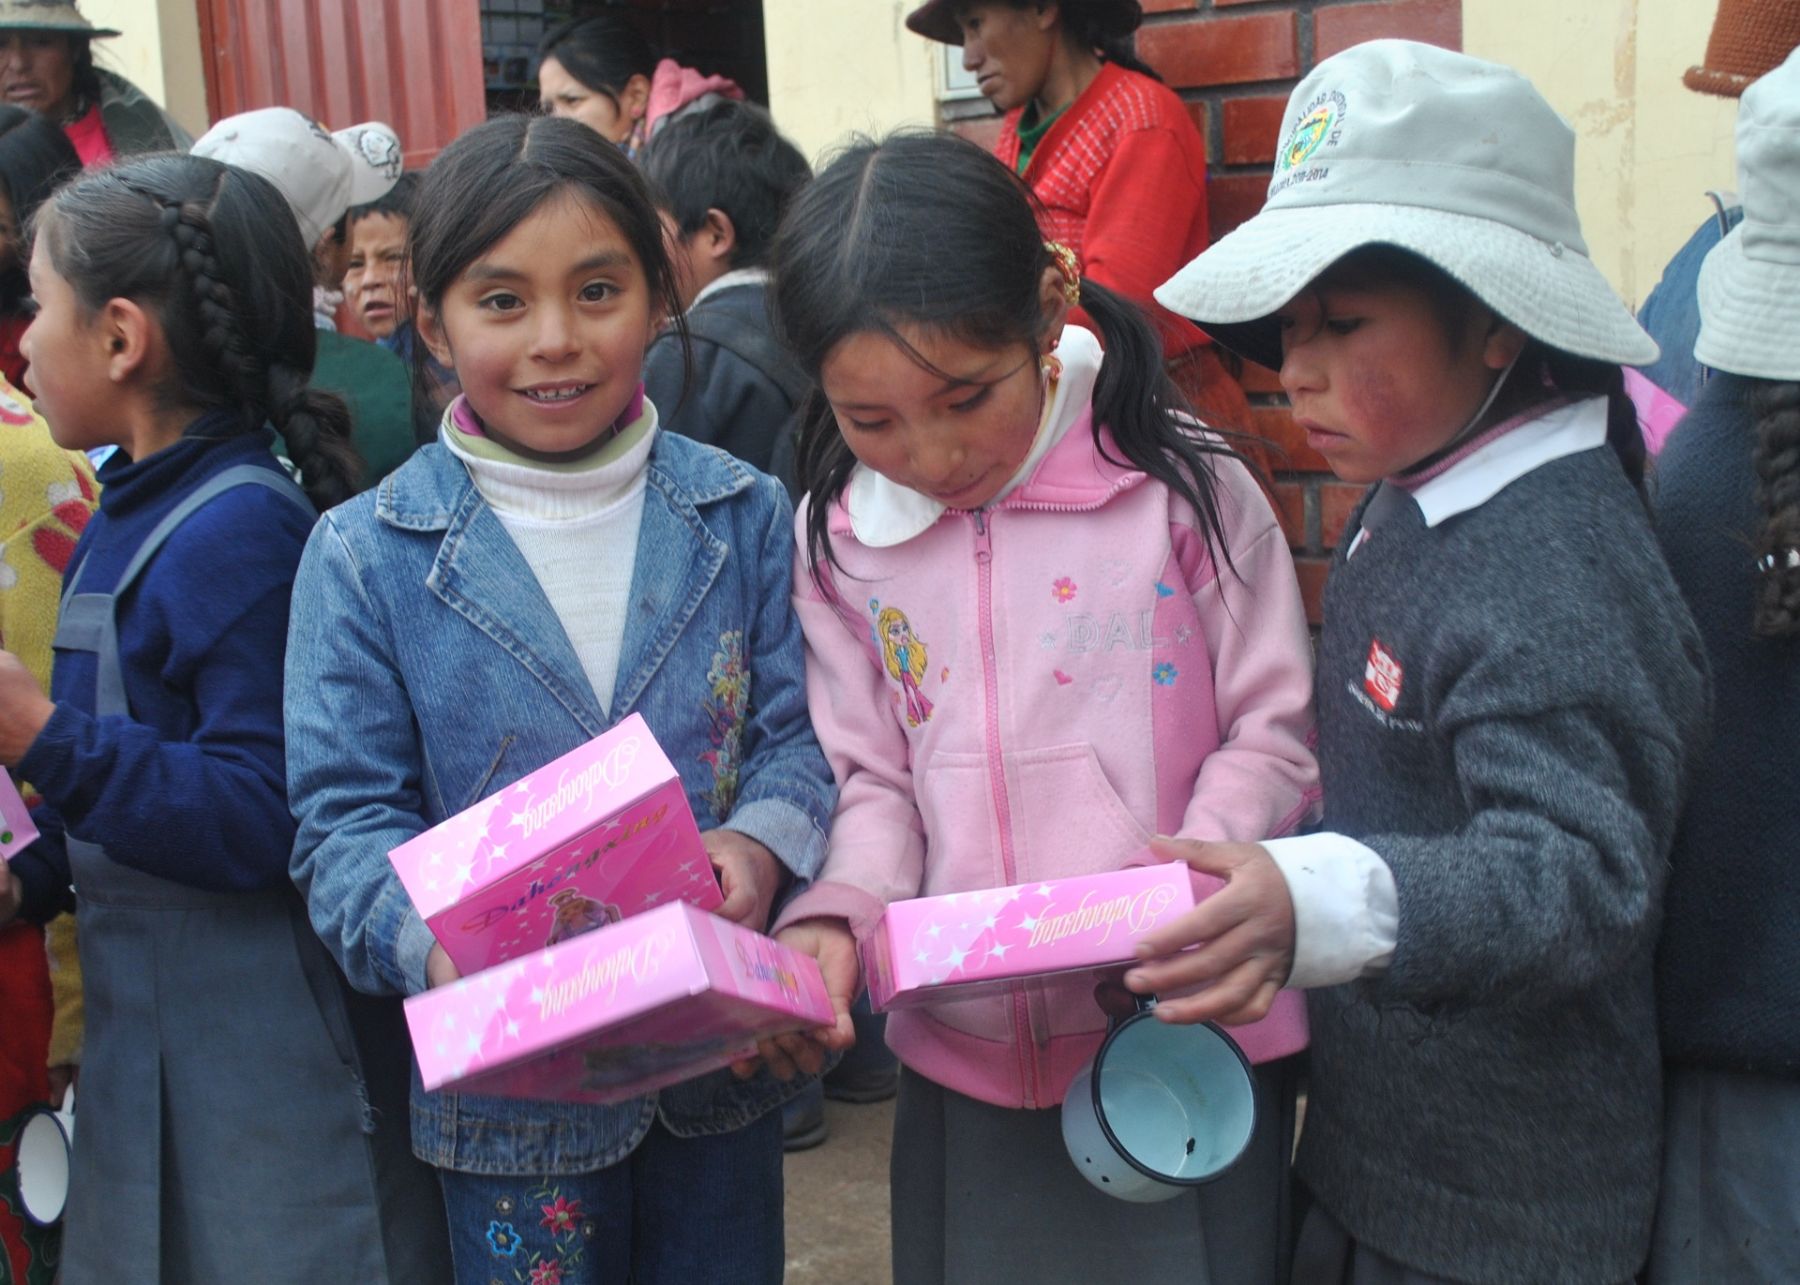
[[[621,1101],[830,1026],[819,965],[670,903],[407,1001],[427,1089]]]

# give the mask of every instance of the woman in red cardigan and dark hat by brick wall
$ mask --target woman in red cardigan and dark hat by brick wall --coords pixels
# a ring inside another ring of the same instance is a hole
[[[1132,52],[1141,20],[1138,0],[931,0],[905,25],[961,45],[963,67],[1006,113],[995,155],[1042,202],[1044,239],[1150,311],[1170,373],[1208,423],[1247,428],[1244,391],[1213,346],[1150,297],[1208,245],[1206,144]],[[1085,324],[1078,311],[1073,320]]]

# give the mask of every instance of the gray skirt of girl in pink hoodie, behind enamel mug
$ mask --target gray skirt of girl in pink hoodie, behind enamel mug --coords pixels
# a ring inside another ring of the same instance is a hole
[[[1287,1278],[1298,1058],[1256,1067],[1256,1132],[1224,1177],[1161,1204],[1098,1191],[1062,1110],[1010,1110],[900,1073],[895,1285],[1276,1285]]]

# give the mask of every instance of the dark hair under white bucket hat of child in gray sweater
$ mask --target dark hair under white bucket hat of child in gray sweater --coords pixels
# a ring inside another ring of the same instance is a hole
[[[1397,245],[1359,247],[1327,268],[1321,279],[1327,275],[1341,283],[1377,283],[1422,292],[1453,355],[1462,346],[1463,322],[1471,306],[1487,308],[1499,320],[1510,320],[1444,268]],[[1618,455],[1633,488],[1643,497],[1647,452],[1636,405],[1625,392],[1624,367],[1616,362],[1575,356],[1550,347],[1543,340],[1526,338],[1507,387],[1494,400],[1487,421],[1498,423],[1501,418],[1521,414],[1552,396],[1606,398],[1606,441]]]

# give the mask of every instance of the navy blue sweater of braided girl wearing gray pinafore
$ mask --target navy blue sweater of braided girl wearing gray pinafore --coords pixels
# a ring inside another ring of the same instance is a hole
[[[142,463],[101,470],[99,513],[76,545],[79,592],[108,592],[169,509],[214,473],[279,468],[265,432],[205,418]],[[43,840],[13,862],[25,914],[68,903],[63,833],[148,875],[243,891],[288,876],[281,669],[288,596],[311,522],[261,486],[194,513],[119,603],[119,657],[131,718],[94,716],[95,659],[58,651],[56,713],[20,763],[43,794]]]

